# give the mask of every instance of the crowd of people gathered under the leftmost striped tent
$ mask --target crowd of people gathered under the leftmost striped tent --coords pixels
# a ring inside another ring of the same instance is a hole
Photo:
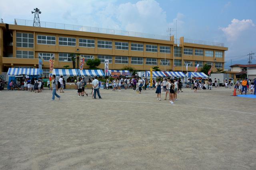
[[[9,83],[10,90],[23,90],[28,92],[42,92],[44,88],[44,81],[42,78],[26,78],[20,79],[14,82],[13,80]]]

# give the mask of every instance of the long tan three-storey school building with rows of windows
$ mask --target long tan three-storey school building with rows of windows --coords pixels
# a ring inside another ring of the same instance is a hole
[[[25,22],[24,22],[25,21]],[[88,59],[100,59],[98,66],[104,69],[104,60],[109,59],[109,69],[121,70],[130,66],[134,70],[194,71],[199,64],[224,70],[225,51],[223,43],[174,39],[161,36],[112,29],[100,29],[78,25],[41,22],[33,27],[33,21],[15,20],[15,24],[0,23],[0,74],[8,68],[38,68],[38,59],[43,59],[43,75],[49,73],[49,60],[54,59],[54,68],[73,68],[72,54]],[[76,64],[77,66],[77,64]],[[84,69],[88,68],[84,64]]]

